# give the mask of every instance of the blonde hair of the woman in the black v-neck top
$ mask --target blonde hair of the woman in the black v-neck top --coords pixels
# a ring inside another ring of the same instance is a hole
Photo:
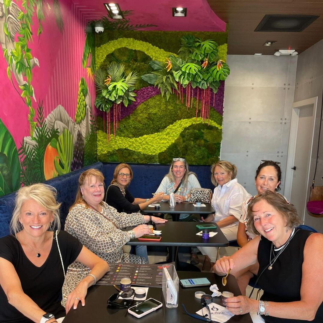
[[[38,183],[21,187],[16,193],[16,205],[9,226],[10,232],[16,235],[22,229],[21,224],[19,223],[19,215],[23,203],[28,200],[34,200],[46,210],[52,212],[54,216],[53,226],[50,228],[50,224],[48,224],[48,228],[50,228],[50,231],[54,231],[54,228],[57,227],[57,230],[59,231],[59,207],[61,203],[56,201],[56,197],[56,188],[47,184]]]

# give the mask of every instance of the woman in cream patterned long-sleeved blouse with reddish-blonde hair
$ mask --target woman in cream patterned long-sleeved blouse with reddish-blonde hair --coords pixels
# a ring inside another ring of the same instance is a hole
[[[103,182],[103,174],[97,169],[88,169],[80,175],[78,191],[75,202],[69,209],[65,230],[108,263],[148,263],[138,255],[123,253],[122,246],[131,239],[150,234],[146,225],[149,220],[155,223],[165,223],[167,220],[140,213],[117,212],[103,201]],[[129,231],[121,230],[128,226],[136,227]],[[87,272],[88,268],[77,261],[69,266],[66,274],[69,289],[73,289]]]

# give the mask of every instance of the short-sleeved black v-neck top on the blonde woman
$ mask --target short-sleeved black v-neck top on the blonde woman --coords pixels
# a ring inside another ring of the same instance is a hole
[[[83,245],[65,231],[60,231],[57,238],[66,273],[67,267],[78,257]],[[65,309],[60,303],[64,274],[55,233],[49,255],[41,267],[35,266],[27,258],[19,241],[12,235],[0,239],[0,257],[13,264],[24,293],[41,309],[54,314],[55,318],[65,316]],[[32,322],[8,303],[2,287],[0,287],[0,304],[0,322]]]

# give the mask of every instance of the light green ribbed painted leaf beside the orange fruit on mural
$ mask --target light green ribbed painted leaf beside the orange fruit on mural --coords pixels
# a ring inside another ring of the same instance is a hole
[[[58,158],[55,158],[54,165],[58,175],[67,174],[71,171],[74,144],[71,133],[64,129],[57,140]]]

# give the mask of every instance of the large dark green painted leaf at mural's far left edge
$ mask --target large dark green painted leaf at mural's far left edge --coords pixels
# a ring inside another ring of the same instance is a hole
[[[15,142],[0,120],[0,196],[20,187],[20,163]]]

